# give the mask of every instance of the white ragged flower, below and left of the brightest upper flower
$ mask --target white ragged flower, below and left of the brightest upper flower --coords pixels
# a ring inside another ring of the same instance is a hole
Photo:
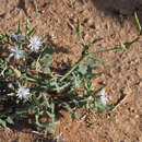
[[[23,50],[19,49],[17,46],[13,46],[10,51],[10,57],[14,57],[14,59],[20,59],[23,57]]]

